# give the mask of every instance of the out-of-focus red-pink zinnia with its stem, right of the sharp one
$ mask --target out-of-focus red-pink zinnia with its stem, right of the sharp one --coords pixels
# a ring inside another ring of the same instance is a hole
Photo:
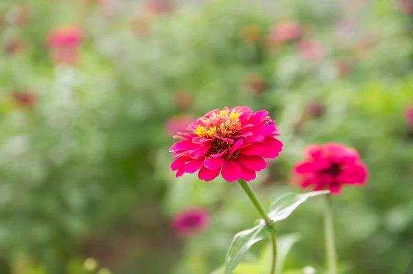
[[[366,185],[368,172],[356,149],[338,143],[310,145],[305,160],[295,165],[293,183],[301,188],[328,189],[331,195],[341,192],[344,185]],[[324,216],[328,274],[337,274],[334,224],[331,198],[326,196]]]

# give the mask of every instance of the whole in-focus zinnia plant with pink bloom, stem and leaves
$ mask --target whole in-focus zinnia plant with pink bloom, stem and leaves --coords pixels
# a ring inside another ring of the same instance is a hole
[[[200,180],[209,181],[221,175],[227,182],[238,181],[262,217],[252,229],[235,235],[226,255],[225,274],[233,273],[248,249],[266,237],[271,238],[273,253],[269,273],[275,273],[277,242],[274,223],[287,218],[308,197],[327,193],[288,194],[276,200],[266,212],[247,181],[254,180],[257,171],[266,168],[264,158],[274,159],[282,151],[283,144],[278,136],[278,129],[268,112],[253,112],[249,107],[214,109],[191,123],[186,131],[173,136],[180,139],[169,149],[176,158],[171,164],[176,177],[198,171]]]

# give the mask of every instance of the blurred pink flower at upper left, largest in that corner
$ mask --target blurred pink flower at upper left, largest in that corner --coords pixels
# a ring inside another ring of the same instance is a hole
[[[47,46],[55,64],[78,62],[80,45],[83,39],[81,30],[74,26],[54,28],[47,35]]]

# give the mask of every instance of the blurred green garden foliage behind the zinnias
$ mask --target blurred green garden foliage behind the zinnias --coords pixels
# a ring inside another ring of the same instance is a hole
[[[286,22],[299,33],[277,28]],[[47,45],[62,25],[83,37],[69,46],[72,64],[56,63]],[[168,149],[191,116],[237,105],[267,109],[282,134],[284,151],[252,182],[266,206],[300,191],[290,169],[306,145],[358,149],[368,185],[334,198],[341,273],[405,273],[412,31],[409,0],[1,0],[0,273],[222,266],[257,213],[237,184],[176,179]],[[301,235],[286,273],[324,273],[321,205],[315,198],[278,226]],[[209,227],[178,237],[171,218],[193,207],[210,212]]]

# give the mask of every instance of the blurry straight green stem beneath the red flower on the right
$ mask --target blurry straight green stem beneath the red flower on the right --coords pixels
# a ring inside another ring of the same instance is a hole
[[[326,195],[324,211],[324,235],[326,237],[326,257],[328,274],[337,274],[337,255],[335,251],[334,222],[331,196]]]

